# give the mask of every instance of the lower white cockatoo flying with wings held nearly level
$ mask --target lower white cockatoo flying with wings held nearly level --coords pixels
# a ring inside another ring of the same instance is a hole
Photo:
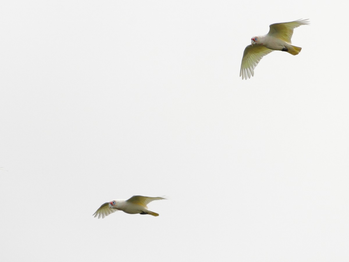
[[[151,196],[133,196],[129,199],[115,199],[101,205],[99,209],[92,215],[98,218],[105,218],[111,213],[118,210],[124,211],[127,214],[141,214],[152,215],[157,217],[159,214],[148,210],[147,204],[154,200],[167,199],[163,197],[151,197]]]

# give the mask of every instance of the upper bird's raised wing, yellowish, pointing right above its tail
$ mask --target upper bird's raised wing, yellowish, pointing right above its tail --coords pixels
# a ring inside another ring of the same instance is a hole
[[[304,19],[304,20],[299,19],[292,22],[271,24],[269,26],[270,29],[268,32],[268,36],[279,38],[282,41],[285,41],[291,44],[293,29],[295,29],[296,27],[302,26],[303,24],[309,24],[308,19]]]

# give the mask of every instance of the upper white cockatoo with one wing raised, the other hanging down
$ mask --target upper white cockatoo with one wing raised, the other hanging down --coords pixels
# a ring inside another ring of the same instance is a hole
[[[271,24],[268,34],[252,37],[251,45],[246,46],[242,57],[240,77],[242,76],[242,79],[251,78],[251,75],[253,77],[253,70],[259,60],[274,50],[285,51],[294,56],[298,54],[302,48],[291,45],[291,37],[293,29],[303,24],[309,24],[308,19]]]

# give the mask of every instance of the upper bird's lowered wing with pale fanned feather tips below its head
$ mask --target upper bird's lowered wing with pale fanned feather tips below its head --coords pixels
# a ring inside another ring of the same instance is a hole
[[[248,45],[245,48],[244,55],[241,61],[240,77],[242,79],[251,78],[254,74],[254,68],[259,63],[259,60],[262,59],[266,54],[273,52],[274,50],[268,49],[262,45]]]

